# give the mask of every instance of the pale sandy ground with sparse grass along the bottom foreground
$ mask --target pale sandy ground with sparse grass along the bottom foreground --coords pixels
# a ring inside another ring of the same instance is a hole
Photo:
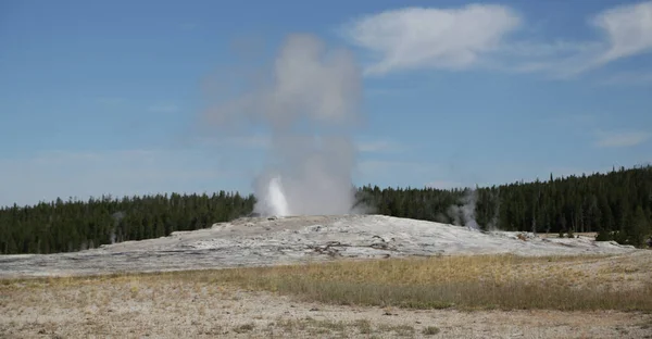
[[[1,291],[2,338],[652,338],[641,313],[336,306],[155,279]]]

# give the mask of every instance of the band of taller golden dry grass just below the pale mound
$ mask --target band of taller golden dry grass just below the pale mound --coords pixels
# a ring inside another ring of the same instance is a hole
[[[256,268],[4,280],[0,291],[16,287],[93,284],[100,279],[128,284],[129,292],[124,298],[145,301],[156,298],[153,292],[147,292],[153,290],[151,285],[192,281],[195,287],[190,291],[179,285],[178,292],[202,292],[200,289],[205,287],[201,286],[208,285],[265,290],[297,296],[305,301],[342,305],[652,311],[652,279],[649,274],[641,276],[639,272],[650,272],[650,267],[637,267],[636,263],[614,266],[610,260],[606,256],[473,255],[339,261]],[[615,269],[610,271],[609,267]],[[92,292],[82,297],[80,300],[96,298]]]

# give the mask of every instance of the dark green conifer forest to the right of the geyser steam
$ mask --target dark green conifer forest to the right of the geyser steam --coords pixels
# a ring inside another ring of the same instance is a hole
[[[359,203],[379,214],[532,233],[599,233],[599,240],[644,244],[652,235],[652,166],[547,181],[442,190],[365,186]]]

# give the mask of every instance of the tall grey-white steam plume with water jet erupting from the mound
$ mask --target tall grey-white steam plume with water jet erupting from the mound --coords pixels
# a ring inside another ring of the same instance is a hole
[[[351,213],[361,121],[361,71],[350,52],[310,35],[289,36],[268,84],[208,111],[221,126],[262,124],[271,133],[265,171],[254,180],[263,215]]]

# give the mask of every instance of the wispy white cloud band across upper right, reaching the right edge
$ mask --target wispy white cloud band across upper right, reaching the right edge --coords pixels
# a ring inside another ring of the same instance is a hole
[[[600,39],[542,41],[526,36],[525,18],[510,7],[469,4],[371,14],[346,25],[343,32],[371,55],[367,75],[488,67],[569,78],[652,50],[650,17],[652,1],[615,7],[587,20]]]

